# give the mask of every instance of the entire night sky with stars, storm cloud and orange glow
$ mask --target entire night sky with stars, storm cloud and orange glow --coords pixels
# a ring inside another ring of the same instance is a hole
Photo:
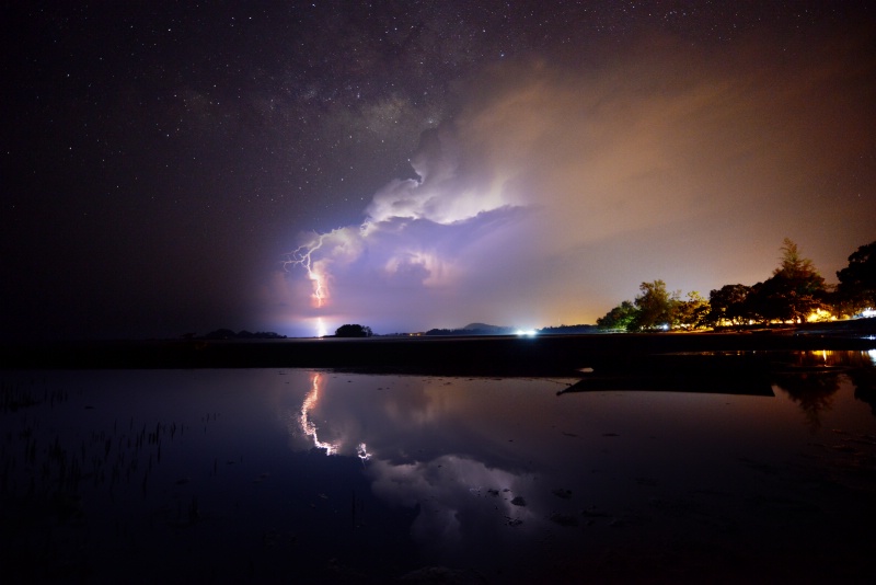
[[[3,2],[0,336],[592,323],[785,237],[835,283],[867,4]]]

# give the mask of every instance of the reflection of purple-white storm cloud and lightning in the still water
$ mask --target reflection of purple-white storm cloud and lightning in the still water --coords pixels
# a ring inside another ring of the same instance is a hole
[[[465,544],[474,534],[496,542],[523,538],[544,527],[555,496],[531,472],[505,464],[519,449],[505,438],[507,425],[530,420],[522,411],[509,421],[516,409],[503,408],[514,403],[517,385],[460,382],[311,372],[303,399],[284,409],[290,446],[367,460],[364,473],[373,495],[390,506],[416,508],[411,536],[448,559],[475,554]],[[531,381],[518,382],[518,390],[532,391]],[[504,404],[472,393],[482,385],[500,386]],[[526,505],[511,504],[515,496]]]

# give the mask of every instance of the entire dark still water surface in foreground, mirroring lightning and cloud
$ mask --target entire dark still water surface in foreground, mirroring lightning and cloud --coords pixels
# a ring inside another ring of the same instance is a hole
[[[876,356],[714,357],[3,371],[3,581],[871,582]]]

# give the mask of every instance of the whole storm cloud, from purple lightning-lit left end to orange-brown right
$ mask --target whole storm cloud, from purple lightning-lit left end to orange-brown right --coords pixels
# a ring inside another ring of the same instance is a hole
[[[762,279],[781,237],[857,221],[816,192],[856,176],[874,124],[854,59],[744,48],[484,71],[424,133],[418,179],[376,193],[360,226],[302,236],[285,307],[384,333],[533,326],[593,322],[643,280],[707,294]]]

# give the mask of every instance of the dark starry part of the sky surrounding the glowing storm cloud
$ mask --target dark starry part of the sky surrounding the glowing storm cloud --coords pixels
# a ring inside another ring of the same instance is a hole
[[[279,301],[265,283],[299,234],[360,225],[384,185],[416,176],[411,160],[424,133],[485,123],[473,112],[498,111],[496,100],[517,95],[515,83],[534,83],[521,71],[580,72],[590,81],[569,87],[584,94],[609,88],[623,67],[634,70],[624,65],[630,55],[644,59],[652,44],[722,70],[781,68],[809,59],[800,57],[807,47],[838,46],[846,31],[865,53],[857,66],[841,64],[845,82],[865,79],[874,64],[867,2],[9,2],[2,10],[8,336],[270,328],[263,307]],[[740,57],[750,53],[758,58]],[[671,97],[678,82],[642,91]],[[621,100],[633,95],[618,88]],[[872,94],[872,82],[850,93],[835,116],[872,117],[862,111]],[[599,99],[612,100],[611,90]],[[844,197],[857,199],[849,209],[860,217],[873,210],[874,194],[860,188],[874,176],[872,158],[861,159],[873,139],[852,142],[849,156],[858,159],[845,159],[855,162],[844,167],[850,174],[819,176],[828,181],[821,196],[840,208]],[[842,260],[873,239],[872,229],[855,230],[854,242],[823,259]],[[797,239],[820,253],[815,239]],[[552,253],[562,262],[569,252]],[[592,321],[591,312],[566,320]]]

